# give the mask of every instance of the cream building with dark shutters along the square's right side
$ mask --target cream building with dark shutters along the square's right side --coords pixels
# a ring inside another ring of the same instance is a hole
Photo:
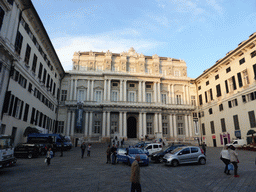
[[[256,131],[256,33],[195,79],[203,140],[223,146]],[[250,138],[249,138],[250,139]]]

